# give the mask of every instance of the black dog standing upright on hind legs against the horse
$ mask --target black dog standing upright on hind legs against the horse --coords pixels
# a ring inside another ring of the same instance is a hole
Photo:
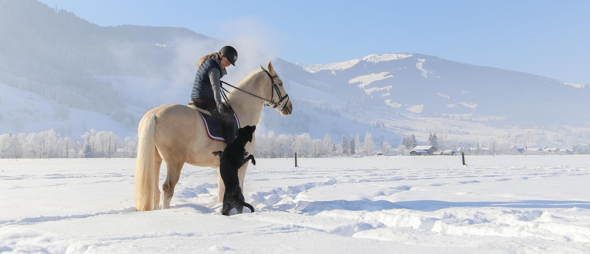
[[[223,209],[221,214],[230,215],[230,210],[235,207],[238,213],[242,213],[244,206],[254,213],[254,207],[244,201],[244,194],[240,188],[240,179],[238,178],[238,169],[242,167],[248,160],[252,160],[252,164],[256,165],[254,155],[248,155],[244,146],[248,142],[252,142],[252,137],[256,126],[244,126],[238,129],[238,136],[234,142],[225,147],[224,151],[212,152],[213,155],[219,155],[219,175],[225,185],[225,193],[223,196]]]

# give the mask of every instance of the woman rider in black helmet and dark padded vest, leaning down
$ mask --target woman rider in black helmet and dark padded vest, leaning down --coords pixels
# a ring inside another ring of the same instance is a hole
[[[195,83],[192,87],[191,102],[189,102],[189,105],[211,112],[221,125],[227,144],[235,139],[235,118],[234,112],[222,102],[219,79],[227,74],[225,67],[230,64],[235,66],[237,59],[238,52],[231,46],[222,47],[219,52],[202,57],[195,64],[197,69]]]

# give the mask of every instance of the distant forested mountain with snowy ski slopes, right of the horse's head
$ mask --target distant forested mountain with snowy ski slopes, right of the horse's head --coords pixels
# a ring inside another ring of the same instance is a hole
[[[355,87],[402,112],[475,114],[516,124],[585,125],[585,84],[519,71],[473,66],[424,54],[371,54],[350,61],[297,64],[315,79]],[[504,123],[505,124],[505,123]]]

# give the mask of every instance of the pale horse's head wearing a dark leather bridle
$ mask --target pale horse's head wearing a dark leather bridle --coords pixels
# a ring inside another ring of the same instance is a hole
[[[273,106],[273,108],[281,112],[281,115],[290,115],[293,112],[293,104],[289,99],[289,95],[285,92],[283,80],[281,80],[281,77],[279,77],[276,71],[274,71],[273,64],[268,61],[266,69],[264,69],[262,65],[260,65],[260,69],[268,71],[267,79],[270,80],[271,86],[270,89],[268,89],[267,98],[270,98],[271,100],[269,103],[270,106]]]

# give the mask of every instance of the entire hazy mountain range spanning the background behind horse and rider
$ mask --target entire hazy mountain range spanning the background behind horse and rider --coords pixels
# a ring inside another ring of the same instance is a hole
[[[0,1],[0,133],[54,128],[79,137],[95,128],[134,136],[149,109],[188,101],[196,60],[225,44],[186,28],[101,27],[38,1]],[[293,64],[250,42],[231,44],[241,57],[225,81],[273,60],[293,102],[287,117],[265,108],[260,131],[333,140],[371,132],[392,145],[411,134],[424,142],[430,132],[455,146],[590,137],[588,128],[558,126],[585,127],[588,112],[576,110],[588,99],[582,84],[422,54]]]

